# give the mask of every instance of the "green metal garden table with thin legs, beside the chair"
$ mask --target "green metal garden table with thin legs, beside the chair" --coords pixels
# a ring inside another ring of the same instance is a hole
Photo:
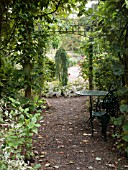
[[[93,111],[93,96],[105,96],[108,92],[107,91],[100,91],[100,90],[82,90],[82,91],[77,91],[76,94],[82,95],[82,96],[89,96],[90,98],[90,106],[89,106],[89,113],[90,113],[90,123],[92,127],[92,136],[93,136],[93,123],[92,123],[92,111]]]

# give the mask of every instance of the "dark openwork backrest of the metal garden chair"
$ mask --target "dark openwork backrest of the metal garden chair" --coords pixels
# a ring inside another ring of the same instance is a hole
[[[115,94],[116,90],[111,90],[103,99],[102,107],[112,117],[118,117],[119,101],[118,96]]]

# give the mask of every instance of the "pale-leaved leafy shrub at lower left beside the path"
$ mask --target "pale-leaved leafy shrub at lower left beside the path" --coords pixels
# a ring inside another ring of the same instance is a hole
[[[34,163],[32,136],[38,133],[45,104],[42,100],[21,102],[11,97],[1,99],[0,104],[1,169],[38,169],[39,165],[30,166]]]

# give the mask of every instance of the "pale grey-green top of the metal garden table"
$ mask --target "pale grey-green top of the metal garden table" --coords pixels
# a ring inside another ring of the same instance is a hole
[[[76,92],[76,94],[83,96],[105,96],[107,93],[108,93],[107,91],[101,90],[82,90]]]

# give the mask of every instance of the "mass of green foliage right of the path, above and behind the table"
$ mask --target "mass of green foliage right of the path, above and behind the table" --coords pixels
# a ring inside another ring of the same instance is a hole
[[[84,10],[80,15],[87,16],[90,25],[83,44],[85,61],[81,64],[82,74],[89,78],[89,48],[91,55],[93,83],[95,88],[108,90],[114,82],[120,101],[120,116],[114,119],[119,126],[117,147],[128,154],[128,9],[125,0],[99,1],[98,5]]]

